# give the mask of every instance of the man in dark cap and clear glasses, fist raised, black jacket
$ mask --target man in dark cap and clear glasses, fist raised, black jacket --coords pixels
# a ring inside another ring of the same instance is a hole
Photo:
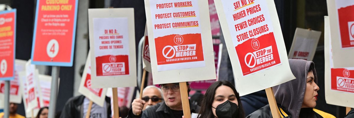
[[[132,103],[133,112],[129,112],[127,118],[182,118],[183,108],[179,83],[161,84],[160,86],[164,102],[157,103],[141,111],[139,109],[143,109],[145,102],[140,99],[135,99]],[[189,88],[188,83],[187,86]],[[189,107],[191,113],[199,112],[200,107],[198,105],[189,103]]]

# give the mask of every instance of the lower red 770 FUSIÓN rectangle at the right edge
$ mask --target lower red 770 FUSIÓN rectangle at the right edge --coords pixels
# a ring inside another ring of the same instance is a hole
[[[331,68],[331,89],[354,93],[354,70]]]

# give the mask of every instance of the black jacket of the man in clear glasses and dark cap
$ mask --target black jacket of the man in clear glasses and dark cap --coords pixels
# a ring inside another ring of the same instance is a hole
[[[198,113],[200,107],[198,105],[189,102],[190,113]],[[181,112],[182,114],[175,114]],[[183,111],[174,111],[170,109],[165,102],[160,102],[154,106],[151,106],[143,111],[139,116],[135,116],[132,109],[129,110],[129,114],[126,118],[182,118]]]

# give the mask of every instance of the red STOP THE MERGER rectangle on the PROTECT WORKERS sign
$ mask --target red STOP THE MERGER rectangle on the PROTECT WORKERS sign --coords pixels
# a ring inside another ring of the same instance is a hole
[[[204,61],[200,34],[172,34],[155,38],[157,64]]]

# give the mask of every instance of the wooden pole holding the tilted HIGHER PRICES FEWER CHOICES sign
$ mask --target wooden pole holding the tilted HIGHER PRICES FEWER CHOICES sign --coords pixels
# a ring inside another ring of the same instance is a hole
[[[272,111],[272,116],[273,118],[280,118],[279,115],[279,109],[278,106],[276,105],[274,93],[273,93],[273,88],[268,88],[265,89],[265,93],[267,94],[268,102],[269,102],[269,107],[270,111]]]

